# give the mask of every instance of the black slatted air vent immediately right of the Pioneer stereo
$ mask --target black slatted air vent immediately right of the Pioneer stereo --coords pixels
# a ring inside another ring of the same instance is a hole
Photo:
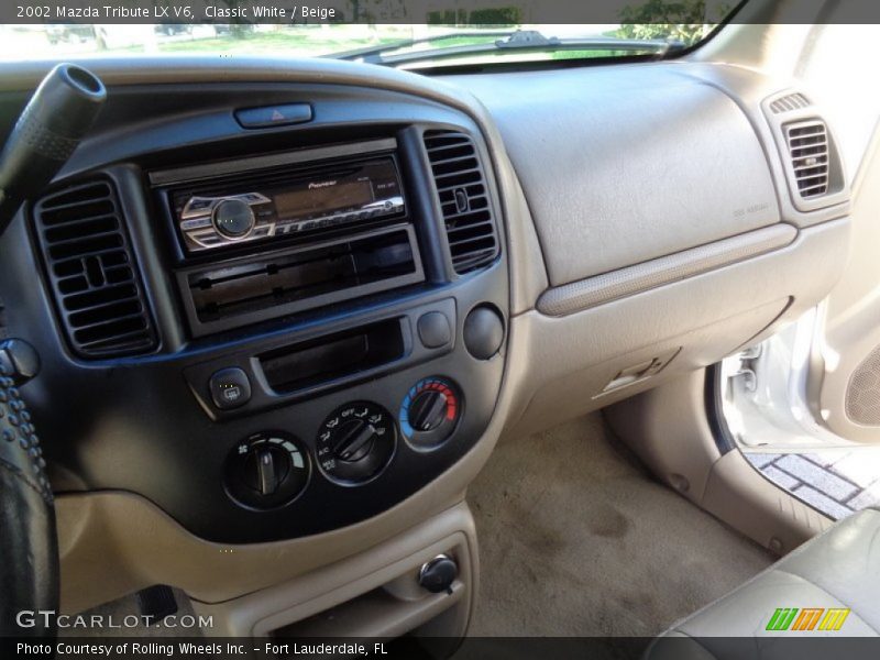
[[[498,255],[488,190],[473,141],[463,133],[425,134],[455,273],[482,268]]]

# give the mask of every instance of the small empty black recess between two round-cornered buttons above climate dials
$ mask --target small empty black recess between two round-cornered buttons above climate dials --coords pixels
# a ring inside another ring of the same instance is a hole
[[[268,386],[290,394],[367,372],[404,356],[402,319],[285,346],[258,356]]]

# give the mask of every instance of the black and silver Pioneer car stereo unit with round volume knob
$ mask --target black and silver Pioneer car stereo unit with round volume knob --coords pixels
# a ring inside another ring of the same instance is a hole
[[[170,206],[188,253],[394,218],[405,210],[391,156],[210,179],[172,191]]]

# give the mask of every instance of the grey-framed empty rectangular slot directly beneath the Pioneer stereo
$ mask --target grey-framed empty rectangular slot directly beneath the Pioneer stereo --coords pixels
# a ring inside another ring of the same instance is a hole
[[[179,274],[194,336],[425,279],[411,226]]]

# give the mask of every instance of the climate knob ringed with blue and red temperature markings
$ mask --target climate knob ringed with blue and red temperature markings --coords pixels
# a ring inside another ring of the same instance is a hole
[[[400,429],[417,450],[431,450],[452,436],[461,417],[461,396],[446,378],[416,383],[400,405]]]

